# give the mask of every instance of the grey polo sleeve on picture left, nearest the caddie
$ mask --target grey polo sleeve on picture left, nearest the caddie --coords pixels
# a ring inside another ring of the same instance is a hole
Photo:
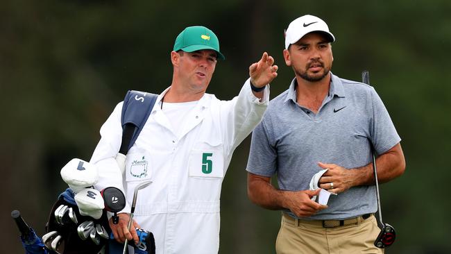
[[[269,140],[268,129],[262,121],[252,133],[246,170],[259,176],[271,177],[275,173],[277,151]]]

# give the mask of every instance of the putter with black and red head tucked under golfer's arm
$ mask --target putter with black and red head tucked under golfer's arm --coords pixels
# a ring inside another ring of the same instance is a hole
[[[366,85],[370,84],[370,73],[368,71],[361,72],[361,80]],[[376,186],[376,198],[377,198],[377,212],[379,213],[379,224],[380,224],[380,233],[377,235],[377,238],[374,242],[374,245],[377,248],[386,248],[391,246],[396,239],[395,228],[386,224],[382,221],[382,209],[380,206],[380,195],[379,195],[379,183],[377,181],[377,169],[376,169],[376,151],[374,146],[371,147],[373,153],[373,169],[374,169],[374,178],[375,178],[375,186]]]

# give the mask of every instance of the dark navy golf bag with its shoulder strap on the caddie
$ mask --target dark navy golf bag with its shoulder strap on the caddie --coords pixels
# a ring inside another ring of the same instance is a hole
[[[146,120],[151,113],[153,105],[155,105],[156,99],[156,94],[149,94],[146,92],[139,92],[134,90],[127,92],[124,98],[124,105],[121,112],[121,126],[123,128],[123,135],[121,140],[121,147],[119,149],[119,153],[123,154],[124,158],[128,153],[128,149],[130,149],[130,147],[135,143],[135,140],[141,132],[144,124],[146,124]],[[71,209],[72,215],[74,218],[76,218],[75,221],[77,222],[71,220],[72,218],[69,218],[69,215],[65,212],[62,212],[62,217],[58,217],[58,221],[56,220],[56,214],[58,213],[57,210],[63,207],[65,208],[65,210]],[[36,248],[37,251],[42,251],[36,253],[54,253],[53,250],[49,251],[44,247],[44,242],[48,242],[48,245],[50,245],[51,243],[54,244],[56,253],[122,253],[122,246],[124,246],[124,244],[119,244],[114,240],[110,226],[108,224],[108,217],[106,213],[106,210],[103,210],[101,218],[99,219],[94,219],[89,216],[82,216],[78,210],[78,205],[74,200],[74,192],[72,192],[71,189],[68,188],[65,190],[65,192],[62,192],[62,194],[60,194],[58,200],[51,208],[49,220],[46,223],[47,234],[42,237],[43,239],[41,240],[34,234],[35,237],[29,240],[25,238],[25,235],[26,237],[28,237],[28,235],[30,234],[22,234],[24,235],[24,237],[21,237],[22,244],[24,244],[24,248],[26,248],[27,254],[35,253],[28,251],[28,248],[31,250],[31,247]],[[80,238],[78,226],[80,226],[80,223],[90,221],[92,221],[92,224],[94,226],[94,230],[91,230],[91,232],[94,232],[94,234],[87,234],[87,238],[83,240]],[[105,232],[103,232],[102,230],[100,232],[102,233],[101,235],[104,235],[103,233],[105,233],[106,237],[105,235],[104,237],[99,237],[99,235],[96,235],[96,232],[99,232],[99,230],[96,230],[96,226],[99,226],[99,228],[105,230]],[[22,228],[24,227],[22,226]],[[20,229],[21,228],[19,227],[19,230]],[[152,232],[137,229],[137,233],[140,239],[139,246],[135,246],[134,242],[130,242],[130,246],[133,246],[135,248],[135,253],[155,253],[155,239]],[[39,239],[40,241],[35,241],[34,239]],[[46,241],[44,241],[44,239]]]

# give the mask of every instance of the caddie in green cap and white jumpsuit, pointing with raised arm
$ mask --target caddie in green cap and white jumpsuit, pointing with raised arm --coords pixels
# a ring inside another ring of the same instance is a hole
[[[119,242],[138,241],[128,231],[133,189],[139,193],[135,226],[155,235],[156,253],[217,253],[219,197],[233,151],[261,121],[269,101],[269,83],[277,76],[274,59],[263,53],[250,65],[250,78],[230,101],[207,94],[217,60],[224,60],[218,37],[204,26],[189,26],[170,53],[171,85],[156,103],[135,144],[128,151],[125,173],[115,156],[121,146],[121,108],[117,104],[101,127],[101,140],[90,162],[99,168],[94,187],[124,190],[128,206],[110,227]],[[238,90],[230,81],[227,89]]]

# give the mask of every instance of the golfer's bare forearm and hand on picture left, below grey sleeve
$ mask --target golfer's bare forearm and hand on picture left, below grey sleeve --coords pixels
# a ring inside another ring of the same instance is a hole
[[[282,191],[271,185],[271,178],[248,173],[248,197],[253,203],[269,210],[289,209],[297,217],[309,217],[327,208],[312,201],[315,191],[303,190],[298,192]]]

